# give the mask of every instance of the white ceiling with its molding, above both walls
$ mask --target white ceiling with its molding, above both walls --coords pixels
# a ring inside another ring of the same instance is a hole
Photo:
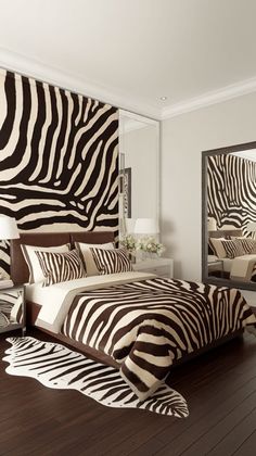
[[[0,0],[0,65],[161,118],[256,90],[255,22],[256,0]]]

